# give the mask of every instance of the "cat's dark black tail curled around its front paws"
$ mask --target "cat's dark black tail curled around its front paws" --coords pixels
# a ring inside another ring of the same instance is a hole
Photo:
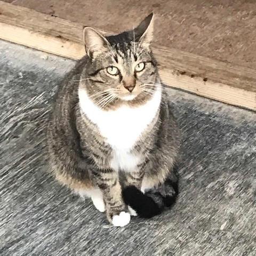
[[[123,190],[123,198],[142,218],[151,218],[161,213],[165,207],[171,207],[179,194],[178,181],[166,180],[157,188],[145,191],[143,194],[138,188],[129,186]]]

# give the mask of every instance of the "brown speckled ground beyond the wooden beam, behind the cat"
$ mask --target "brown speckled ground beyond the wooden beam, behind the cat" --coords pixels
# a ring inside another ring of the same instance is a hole
[[[115,33],[154,11],[156,44],[256,69],[255,0],[4,1]]]

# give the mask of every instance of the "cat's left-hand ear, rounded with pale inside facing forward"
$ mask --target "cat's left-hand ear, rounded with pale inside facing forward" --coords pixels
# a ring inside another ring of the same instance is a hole
[[[90,58],[94,58],[101,52],[106,52],[109,47],[107,39],[93,28],[83,29],[85,51]]]

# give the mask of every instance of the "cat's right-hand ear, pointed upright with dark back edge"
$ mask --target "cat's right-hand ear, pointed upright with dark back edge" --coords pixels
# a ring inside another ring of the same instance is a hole
[[[149,47],[154,34],[154,13],[150,13],[137,28],[134,28],[137,41],[145,47]]]

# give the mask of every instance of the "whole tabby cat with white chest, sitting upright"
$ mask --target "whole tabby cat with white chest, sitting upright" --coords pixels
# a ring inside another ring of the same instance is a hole
[[[85,27],[87,54],[59,86],[49,121],[55,178],[119,227],[178,195],[180,133],[151,51],[153,27],[153,13],[118,35]]]

